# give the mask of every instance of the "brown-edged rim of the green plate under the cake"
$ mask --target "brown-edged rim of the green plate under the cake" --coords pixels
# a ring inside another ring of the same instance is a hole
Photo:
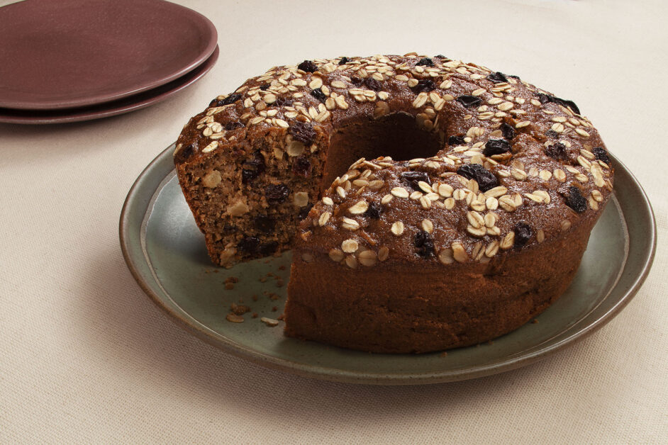
[[[618,315],[618,313],[621,310],[623,310],[623,308],[625,308],[626,305],[628,305],[630,300],[632,300],[635,294],[638,293],[638,291],[640,290],[642,283],[645,282],[647,274],[649,274],[650,272],[652,262],[654,260],[656,253],[657,227],[652,205],[649,199],[647,198],[645,190],[642,188],[642,186],[640,186],[638,179],[635,178],[635,176],[629,171],[629,169],[622,162],[620,162],[620,160],[617,157],[615,157],[614,154],[611,154],[613,162],[615,162],[616,172],[623,171],[624,174],[628,175],[628,179],[630,181],[631,186],[633,186],[634,191],[639,194],[640,198],[642,198],[642,201],[640,201],[640,203],[642,203],[642,208],[646,210],[647,216],[649,217],[647,218],[647,224],[649,225],[650,228],[650,230],[648,231],[650,235],[648,239],[648,244],[650,245],[650,252],[649,254],[645,254],[641,258],[642,261],[641,261],[640,274],[638,274],[638,276],[635,276],[632,285],[628,287],[625,293],[623,293],[623,295],[616,301],[616,303],[614,303],[614,305],[611,308],[609,308],[606,312],[603,312],[603,314],[597,317],[595,320],[589,322],[589,324],[587,324],[586,326],[575,329],[574,332],[567,335],[567,337],[564,337],[564,339],[555,342],[554,344],[549,344],[544,347],[540,347],[540,345],[537,345],[536,347],[538,347],[538,350],[531,351],[529,353],[520,353],[519,356],[509,356],[509,358],[501,359],[501,361],[496,361],[491,364],[477,366],[476,368],[473,369],[456,368],[454,370],[449,370],[449,371],[428,371],[425,373],[415,373],[415,372],[373,373],[368,371],[346,371],[337,368],[304,364],[304,362],[278,359],[276,357],[272,357],[267,354],[255,351],[252,348],[246,347],[243,344],[238,344],[236,342],[233,342],[230,339],[225,339],[225,337],[222,334],[218,334],[217,332],[214,332],[212,329],[206,327],[205,325],[202,325],[201,322],[195,320],[193,317],[191,317],[191,315],[187,314],[187,312],[182,310],[182,313],[179,313],[173,308],[170,308],[168,305],[165,304],[165,301],[163,301],[162,298],[160,298],[160,296],[157,295],[157,293],[155,293],[152,290],[152,288],[150,288],[150,285],[145,281],[145,276],[143,276],[141,271],[138,269],[137,264],[135,264],[135,259],[130,254],[131,246],[130,244],[128,244],[130,239],[129,232],[132,229],[132,227],[130,227],[130,221],[129,221],[130,209],[133,203],[135,203],[136,201],[135,198],[137,198],[138,191],[140,191],[140,185],[143,183],[143,181],[147,179],[147,176],[149,176],[149,174],[152,173],[152,171],[155,168],[162,167],[159,164],[167,162],[167,160],[169,161],[172,160],[171,152],[172,150],[174,150],[174,145],[175,144],[169,145],[169,147],[160,152],[160,154],[158,154],[157,157],[155,157],[143,169],[141,174],[137,177],[137,179],[135,179],[132,187],[130,188],[130,191],[128,191],[126,200],[123,203],[123,208],[121,210],[121,218],[119,220],[118,232],[121,242],[121,251],[123,252],[123,258],[126,261],[130,273],[133,275],[135,281],[137,281],[137,283],[139,284],[140,288],[142,288],[144,293],[146,293],[150,297],[150,300],[152,300],[152,302],[155,303],[155,305],[157,305],[157,307],[160,308],[163,312],[169,315],[170,316],[169,318],[172,320],[172,322],[176,323],[182,329],[186,330],[191,334],[194,334],[199,339],[204,340],[204,342],[211,344],[212,346],[217,347],[218,349],[221,349],[228,354],[238,356],[242,359],[250,360],[255,364],[265,366],[266,368],[272,368],[279,371],[296,374],[299,376],[316,378],[325,381],[335,381],[341,383],[357,383],[357,384],[373,384],[373,385],[417,385],[417,384],[432,384],[432,383],[447,383],[452,381],[462,381],[470,378],[491,376],[496,373],[511,371],[513,369],[520,368],[521,366],[525,366],[534,363],[535,361],[545,359],[547,356],[551,356],[552,354],[555,354],[557,351],[560,351],[565,347],[574,344],[575,342],[578,342],[582,339],[585,339],[586,337],[589,337],[589,335],[596,332],[598,329],[600,329],[608,322],[610,322],[614,317],[616,317],[616,315]],[[171,168],[167,168],[167,171],[165,171],[164,168],[161,170],[160,181],[157,187],[151,191],[150,199],[147,201],[147,207],[143,211],[141,219],[142,226],[144,225],[144,222],[146,220],[146,215],[150,213],[150,210],[152,210],[152,204],[155,202],[155,196],[157,196],[157,193],[159,193],[162,190],[162,184],[164,184],[167,176],[170,176],[174,172],[173,164],[169,165],[171,166]],[[622,214],[622,217],[625,220],[625,224],[628,225],[628,218],[625,217],[625,213],[623,212],[622,206],[619,205],[618,207],[620,213]],[[140,231],[142,230],[143,227],[140,227]],[[142,250],[144,249],[143,246],[141,248]],[[620,269],[620,274],[623,273],[626,264],[628,264],[628,261],[626,261],[624,267]],[[618,282],[612,288],[615,288],[617,285]],[[174,305],[176,305],[176,303],[174,303]],[[584,320],[584,318],[587,317],[589,314],[591,314],[591,311],[587,312],[587,314],[584,315],[580,320]],[[569,329],[574,329],[576,325],[577,322],[574,325],[569,326],[563,331],[559,332],[559,334],[568,332]]]

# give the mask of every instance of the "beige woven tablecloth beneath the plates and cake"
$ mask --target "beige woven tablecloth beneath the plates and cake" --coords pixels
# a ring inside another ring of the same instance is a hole
[[[116,118],[0,125],[0,443],[668,441],[665,2],[179,3],[218,28],[221,59],[199,83]],[[516,371],[374,387],[247,363],[155,308],[123,261],[118,216],[190,116],[277,64],[414,50],[572,98],[635,173],[659,245],[618,317]]]

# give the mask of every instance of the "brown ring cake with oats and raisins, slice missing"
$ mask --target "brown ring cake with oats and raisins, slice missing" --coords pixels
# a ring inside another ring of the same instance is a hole
[[[293,249],[286,335],[374,352],[531,320],[613,190],[574,102],[441,55],[269,69],[191,118],[174,163],[215,264]]]

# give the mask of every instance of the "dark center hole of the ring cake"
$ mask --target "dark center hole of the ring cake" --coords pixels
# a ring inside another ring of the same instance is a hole
[[[395,161],[432,157],[445,142],[437,131],[418,125],[408,113],[393,113],[377,120],[347,122],[332,135],[323,174],[323,188],[343,175],[350,165],[364,157],[389,156]]]

